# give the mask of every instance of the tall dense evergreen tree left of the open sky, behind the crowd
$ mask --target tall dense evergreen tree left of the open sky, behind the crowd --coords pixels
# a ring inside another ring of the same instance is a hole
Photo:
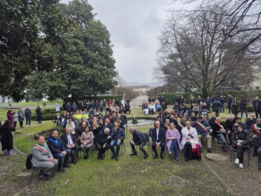
[[[57,47],[59,65],[52,72],[36,71],[30,78],[30,92],[37,98],[60,97],[72,102],[105,93],[115,85],[109,31],[94,19],[87,1],[73,0],[59,7],[75,25],[66,36],[67,47]]]

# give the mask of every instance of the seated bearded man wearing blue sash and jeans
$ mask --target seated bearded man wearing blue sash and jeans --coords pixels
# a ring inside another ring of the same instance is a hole
[[[47,145],[52,153],[53,158],[58,159],[58,170],[60,172],[65,172],[63,167],[66,168],[71,167],[70,165],[67,164],[70,158],[71,151],[64,147],[64,144],[62,143],[61,138],[58,136],[58,132],[56,130],[52,131],[52,135],[50,135],[47,141]],[[64,160],[64,164],[62,167],[63,160]]]

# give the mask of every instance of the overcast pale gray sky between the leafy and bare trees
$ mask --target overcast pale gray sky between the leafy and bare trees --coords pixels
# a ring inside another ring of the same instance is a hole
[[[68,3],[69,0],[61,0]],[[96,19],[110,31],[119,75],[127,82],[150,82],[155,66],[157,36],[170,0],[88,0]],[[172,5],[173,6],[173,5]]]

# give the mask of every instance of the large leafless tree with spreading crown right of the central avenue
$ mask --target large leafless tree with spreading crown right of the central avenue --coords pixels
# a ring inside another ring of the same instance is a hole
[[[206,98],[220,88],[249,84],[254,80],[250,56],[242,47],[242,35],[224,35],[226,21],[220,13],[170,12],[159,39],[154,75],[173,90],[199,91]],[[216,10],[215,10],[216,11]],[[247,36],[247,35],[246,35]]]

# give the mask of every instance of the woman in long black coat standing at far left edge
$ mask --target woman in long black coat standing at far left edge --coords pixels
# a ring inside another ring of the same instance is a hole
[[[15,128],[10,121],[6,121],[0,128],[2,151],[5,152],[5,155],[12,155],[12,149],[14,148],[12,131],[15,131]]]

